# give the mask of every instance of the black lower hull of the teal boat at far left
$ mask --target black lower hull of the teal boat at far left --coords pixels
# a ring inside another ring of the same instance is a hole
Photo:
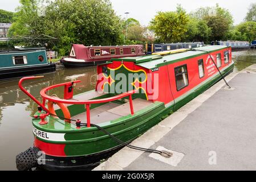
[[[55,72],[55,64],[38,65],[31,67],[17,67],[9,69],[0,69],[0,80],[18,78],[29,75],[39,75],[42,73]]]

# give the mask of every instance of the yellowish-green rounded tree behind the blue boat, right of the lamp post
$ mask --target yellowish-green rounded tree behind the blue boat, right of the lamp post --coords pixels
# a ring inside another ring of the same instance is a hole
[[[155,32],[160,42],[180,42],[187,31],[188,22],[186,11],[178,5],[176,11],[157,13],[149,28]]]

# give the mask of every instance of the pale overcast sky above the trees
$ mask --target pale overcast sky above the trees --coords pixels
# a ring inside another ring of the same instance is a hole
[[[15,11],[19,6],[19,0],[0,0],[0,9]],[[144,26],[156,15],[157,11],[174,11],[177,3],[188,12],[199,7],[214,6],[218,3],[221,7],[229,9],[234,17],[234,23],[239,24],[246,16],[250,3],[256,0],[110,0],[117,15],[125,18],[125,12],[129,17],[140,21]]]

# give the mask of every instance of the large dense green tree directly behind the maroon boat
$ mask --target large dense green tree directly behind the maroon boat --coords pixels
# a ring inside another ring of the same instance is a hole
[[[108,0],[55,0],[45,12],[46,34],[59,39],[60,55],[68,53],[72,43],[119,44],[121,23]]]

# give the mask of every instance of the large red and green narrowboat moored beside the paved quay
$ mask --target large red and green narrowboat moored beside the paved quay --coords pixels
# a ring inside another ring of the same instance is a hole
[[[42,103],[22,87],[23,81],[38,77],[22,78],[20,88],[39,105],[32,125],[34,148],[43,151],[47,159],[42,167],[88,167],[123,147],[95,125],[131,142],[234,68],[231,47],[226,46],[161,55],[112,59],[97,66],[95,90],[73,96],[79,81],[53,85],[40,92]],[[64,98],[47,95],[60,86],[64,87]]]

